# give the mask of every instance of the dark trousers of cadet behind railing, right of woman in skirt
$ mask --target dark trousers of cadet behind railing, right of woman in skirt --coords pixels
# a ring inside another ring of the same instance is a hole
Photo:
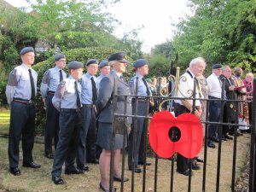
[[[146,102],[138,102],[137,103],[137,115],[139,116],[145,116],[146,115],[146,109],[147,103]],[[134,113],[134,103],[132,103],[132,109]],[[134,131],[135,131],[135,123],[137,125],[137,135],[136,140],[134,139]],[[134,153],[134,164],[135,166],[138,165],[138,161],[143,162],[143,153],[144,153],[144,140],[143,140],[143,134],[147,134],[147,131],[143,131],[143,128],[147,125],[147,119],[143,118],[137,118],[132,119],[131,124],[131,132],[129,134],[129,145],[128,145],[128,166],[131,166],[132,164],[132,153]],[[147,130],[147,129],[145,129]],[[133,152],[133,146],[135,145],[135,151]]]

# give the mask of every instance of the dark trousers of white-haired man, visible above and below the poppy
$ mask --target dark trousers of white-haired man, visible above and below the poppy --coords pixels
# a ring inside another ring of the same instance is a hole
[[[174,113],[177,117],[183,113],[189,113],[189,109],[185,108],[183,105],[174,103]],[[185,172],[189,169],[189,159],[185,158],[182,154],[177,153],[177,170],[180,172]]]

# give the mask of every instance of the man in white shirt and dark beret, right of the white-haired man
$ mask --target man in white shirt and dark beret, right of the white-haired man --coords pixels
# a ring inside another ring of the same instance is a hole
[[[209,87],[209,99],[221,99],[222,94],[222,83],[219,79],[219,76],[222,73],[222,65],[214,64],[212,66],[212,74],[207,78],[207,85]],[[215,100],[209,102],[209,121],[217,122],[220,117],[220,107],[221,102]],[[216,137],[218,130],[218,125],[211,124],[208,129],[207,145],[209,148],[215,148],[213,142],[218,142],[218,137]]]

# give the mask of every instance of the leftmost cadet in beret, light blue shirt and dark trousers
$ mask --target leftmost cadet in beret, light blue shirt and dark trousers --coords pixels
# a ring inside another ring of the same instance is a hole
[[[7,101],[10,105],[9,125],[9,172],[20,175],[19,143],[22,136],[23,166],[39,168],[33,162],[32,149],[35,133],[35,96],[37,94],[38,73],[32,69],[34,49],[21,49],[22,63],[9,74],[6,86]]]

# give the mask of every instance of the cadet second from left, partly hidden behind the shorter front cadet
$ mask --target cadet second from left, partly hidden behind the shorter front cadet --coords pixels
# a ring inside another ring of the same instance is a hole
[[[67,78],[67,74],[62,70],[66,66],[66,56],[63,54],[55,55],[55,67],[50,68],[44,73],[41,83],[41,96],[46,108],[46,124],[44,131],[44,155],[49,159],[54,158],[52,153],[52,139],[54,138],[55,148],[59,138],[59,116],[60,112],[54,108],[52,97],[55,95],[58,84]]]

